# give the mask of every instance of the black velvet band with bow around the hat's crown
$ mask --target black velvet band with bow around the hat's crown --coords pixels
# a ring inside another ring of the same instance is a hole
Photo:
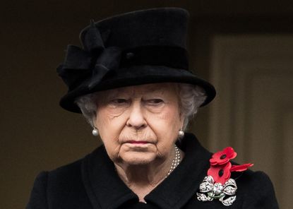
[[[119,47],[107,47],[91,53],[76,46],[68,46],[64,64],[57,68],[59,76],[74,90],[85,80],[91,79],[89,88],[95,88],[107,73],[118,71],[131,66],[167,66],[171,68],[188,68],[186,49],[171,46],[143,46],[126,49],[121,52]],[[151,72],[143,72],[149,75]]]

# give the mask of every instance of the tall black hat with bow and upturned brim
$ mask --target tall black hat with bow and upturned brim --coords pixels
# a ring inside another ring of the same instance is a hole
[[[208,104],[215,88],[189,71],[186,32],[189,13],[182,8],[153,8],[114,16],[80,32],[83,48],[69,45],[57,68],[68,85],[60,105],[80,112],[77,97],[100,90],[147,83],[201,86]]]

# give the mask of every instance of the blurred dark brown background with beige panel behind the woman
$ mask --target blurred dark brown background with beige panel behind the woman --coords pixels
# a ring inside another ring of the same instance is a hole
[[[67,44],[90,19],[145,8],[189,10],[189,59],[217,98],[190,126],[211,151],[233,146],[293,201],[292,1],[6,1],[0,8],[0,208],[25,208],[36,175],[100,145],[79,114],[59,107],[56,75]]]

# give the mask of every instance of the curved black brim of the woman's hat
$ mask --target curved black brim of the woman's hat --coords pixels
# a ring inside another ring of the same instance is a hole
[[[67,92],[60,100],[61,107],[70,112],[80,113],[80,109],[76,104],[76,98],[80,96],[102,90],[149,83],[189,83],[201,86],[207,96],[201,107],[211,102],[216,95],[215,88],[207,81],[198,78],[190,71],[169,68],[167,66],[131,66],[129,68],[120,68],[109,72],[98,85],[91,89],[88,88],[89,83],[90,79],[85,80],[78,88]]]

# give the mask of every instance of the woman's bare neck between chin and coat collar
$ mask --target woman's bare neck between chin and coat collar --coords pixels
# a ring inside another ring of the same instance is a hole
[[[184,153],[179,152],[182,160]],[[174,157],[175,152],[172,152],[166,160],[156,160],[147,165],[115,164],[115,167],[126,186],[138,195],[140,202],[145,202],[143,198],[167,177]]]

